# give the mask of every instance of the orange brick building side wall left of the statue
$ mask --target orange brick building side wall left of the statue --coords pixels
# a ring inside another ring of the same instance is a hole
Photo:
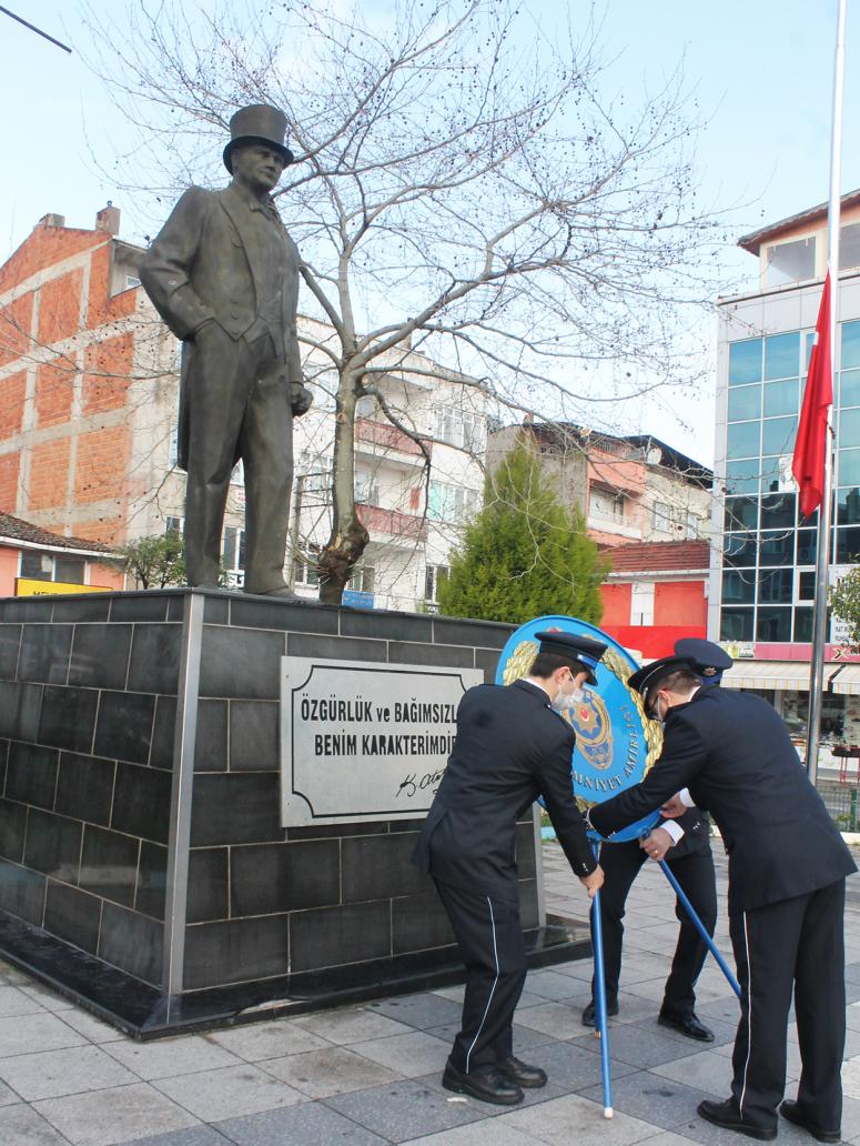
[[[110,205],[93,230],[46,215],[0,268],[0,511],[109,544],[149,532],[175,368],[118,228]]]

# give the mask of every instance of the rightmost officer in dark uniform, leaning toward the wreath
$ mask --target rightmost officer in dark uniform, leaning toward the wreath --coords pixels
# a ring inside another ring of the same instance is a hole
[[[609,837],[656,807],[713,816],[728,853],[729,934],[741,983],[732,1097],[703,1101],[708,1122],[771,1141],[780,1113],[819,1141],[841,1138],[845,1044],[845,877],[854,862],[767,701],[703,689],[680,657],[631,676],[665,721],[663,752],[641,784],[590,809]],[[794,991],[803,1072],[784,1101]]]

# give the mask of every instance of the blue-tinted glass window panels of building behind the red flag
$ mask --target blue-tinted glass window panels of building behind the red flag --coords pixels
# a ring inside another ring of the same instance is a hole
[[[721,641],[812,639],[818,513],[799,516],[791,477],[812,342],[811,330],[788,330],[724,347],[727,363],[719,399],[725,422],[718,424],[718,455],[725,465],[718,570]],[[830,563],[844,567],[860,555],[860,321],[841,323],[837,366]]]

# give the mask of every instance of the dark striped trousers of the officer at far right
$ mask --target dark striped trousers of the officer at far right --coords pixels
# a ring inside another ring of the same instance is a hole
[[[797,1102],[820,1130],[842,1121],[839,1072],[845,1046],[845,880],[729,916],[741,984],[732,1093],[744,1121],[776,1125],[786,1089],[794,990],[803,1063]]]

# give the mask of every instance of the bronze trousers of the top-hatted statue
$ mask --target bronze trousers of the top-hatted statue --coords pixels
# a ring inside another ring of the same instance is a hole
[[[218,584],[230,473],[245,469],[245,592],[285,586],[293,477],[292,407],[268,335],[247,343],[210,322],[186,344],[186,559],[192,586]]]

